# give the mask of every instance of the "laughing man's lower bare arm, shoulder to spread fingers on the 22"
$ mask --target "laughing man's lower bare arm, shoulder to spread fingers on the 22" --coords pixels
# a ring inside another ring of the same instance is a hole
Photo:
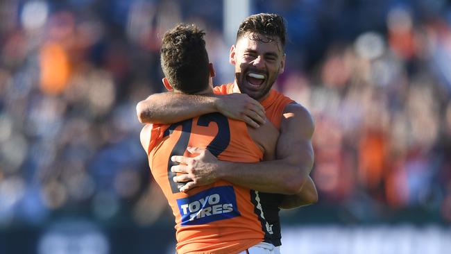
[[[313,165],[313,132],[314,124],[309,112],[298,104],[287,105],[276,149],[278,160],[225,162],[217,160],[209,151],[198,150],[196,152],[200,155],[194,158],[173,156],[174,161],[185,164],[173,166],[173,171],[185,173],[174,180],[189,182],[182,191],[224,179],[260,192],[299,194]]]

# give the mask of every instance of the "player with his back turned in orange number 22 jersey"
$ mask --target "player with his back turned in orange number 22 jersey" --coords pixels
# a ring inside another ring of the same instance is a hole
[[[164,34],[161,60],[168,90],[212,94],[214,69],[207,58],[203,31],[178,25]],[[185,253],[239,253],[266,240],[271,226],[256,192],[219,180],[180,192],[171,172],[173,155],[192,155],[188,146],[209,150],[219,160],[274,160],[278,130],[266,121],[257,129],[211,113],[175,124],[146,125],[141,142],[153,178],[160,185],[176,220],[176,250]]]

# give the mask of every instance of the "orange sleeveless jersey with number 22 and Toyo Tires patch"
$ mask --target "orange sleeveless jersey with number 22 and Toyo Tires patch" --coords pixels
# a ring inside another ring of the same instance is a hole
[[[172,155],[194,156],[187,146],[208,149],[219,160],[259,162],[263,153],[246,124],[212,113],[171,125],[153,125],[147,154],[151,172],[176,219],[178,253],[238,253],[264,241],[253,192],[224,180],[182,193],[172,178]],[[252,199],[254,198],[254,199]]]

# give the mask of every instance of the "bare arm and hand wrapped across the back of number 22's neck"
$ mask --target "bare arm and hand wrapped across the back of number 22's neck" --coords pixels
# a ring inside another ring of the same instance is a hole
[[[220,112],[255,128],[266,119],[263,106],[247,94],[162,92],[137,103],[136,112],[140,122],[154,124],[173,124],[211,112]]]

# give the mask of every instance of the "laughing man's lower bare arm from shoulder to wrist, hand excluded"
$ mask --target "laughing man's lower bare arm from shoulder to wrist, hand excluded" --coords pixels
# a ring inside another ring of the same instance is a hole
[[[298,104],[287,105],[275,149],[278,160],[257,164],[226,162],[219,178],[262,192],[298,194],[313,165],[313,131],[309,112]]]

